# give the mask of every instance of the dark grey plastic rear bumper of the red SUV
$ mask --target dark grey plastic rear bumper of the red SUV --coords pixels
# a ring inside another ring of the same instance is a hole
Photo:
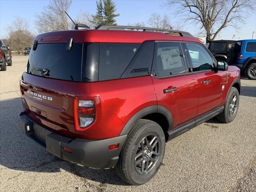
[[[103,140],[69,138],[52,132],[48,128],[34,122],[25,112],[20,113],[19,124],[22,132],[46,147],[46,150],[51,154],[64,160],[93,168],[114,167],[127,136],[122,135]],[[27,126],[30,126],[29,131]],[[108,149],[109,145],[117,143],[119,143],[117,149]],[[64,151],[63,147],[71,149],[72,153]]]

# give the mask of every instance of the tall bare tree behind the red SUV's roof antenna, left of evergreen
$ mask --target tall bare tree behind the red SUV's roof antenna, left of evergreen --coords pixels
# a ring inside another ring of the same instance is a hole
[[[36,14],[36,28],[38,32],[50,32],[53,30],[67,30],[69,28],[68,12],[72,0],[51,0],[48,6],[39,14]]]

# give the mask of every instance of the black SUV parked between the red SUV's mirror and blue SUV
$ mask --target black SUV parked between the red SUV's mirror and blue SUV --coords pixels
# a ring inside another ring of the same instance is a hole
[[[226,61],[228,50],[234,48],[236,41],[233,40],[216,40],[210,41],[208,49],[212,52],[217,61]]]

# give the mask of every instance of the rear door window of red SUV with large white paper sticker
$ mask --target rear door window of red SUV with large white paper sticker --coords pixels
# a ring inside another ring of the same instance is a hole
[[[158,42],[154,54],[154,72],[156,76],[169,76],[186,73],[186,67],[180,43]]]

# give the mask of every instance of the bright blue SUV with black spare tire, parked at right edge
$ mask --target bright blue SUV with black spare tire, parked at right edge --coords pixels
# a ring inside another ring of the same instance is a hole
[[[256,80],[256,40],[237,41],[227,52],[228,65],[235,65],[249,78]]]

